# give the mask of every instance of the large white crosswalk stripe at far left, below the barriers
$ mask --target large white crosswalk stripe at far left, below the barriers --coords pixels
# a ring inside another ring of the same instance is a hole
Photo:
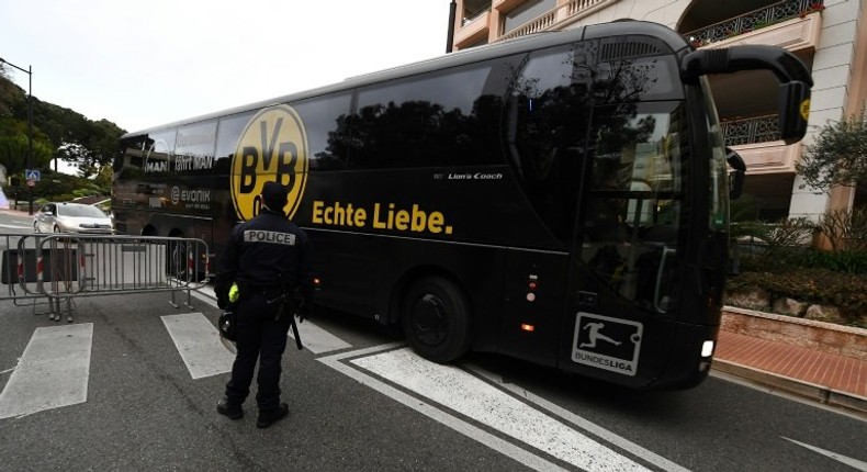
[[[88,400],[93,324],[36,328],[0,392],[0,418]]]

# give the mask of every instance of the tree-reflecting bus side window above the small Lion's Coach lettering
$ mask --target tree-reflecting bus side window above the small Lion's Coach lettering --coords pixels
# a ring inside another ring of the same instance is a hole
[[[499,103],[484,90],[491,69],[473,64],[359,89],[352,167],[496,162]]]

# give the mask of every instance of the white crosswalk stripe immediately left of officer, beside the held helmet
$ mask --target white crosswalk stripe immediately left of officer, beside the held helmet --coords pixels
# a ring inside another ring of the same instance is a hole
[[[235,355],[219,342],[219,331],[205,315],[187,313],[161,318],[193,379],[232,371]]]

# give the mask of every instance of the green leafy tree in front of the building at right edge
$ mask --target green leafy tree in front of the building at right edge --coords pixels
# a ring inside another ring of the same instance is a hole
[[[822,127],[796,165],[804,184],[829,193],[836,186],[867,189],[867,122],[862,113]]]

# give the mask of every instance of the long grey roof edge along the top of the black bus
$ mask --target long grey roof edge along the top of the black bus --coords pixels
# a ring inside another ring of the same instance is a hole
[[[341,82],[318,87],[314,89],[308,89],[305,91],[294,92],[288,95],[275,97],[273,99],[248,103],[240,106],[235,106],[232,109],[207,113],[204,115],[199,115],[187,120],[180,120],[171,123],[151,126],[145,130],[126,133],[125,135],[121,136],[121,138],[147,134],[158,130],[178,127],[201,121],[213,120],[221,116],[228,116],[250,110],[259,110],[279,103],[286,103],[302,99],[319,97],[328,93],[351,90],[358,87],[363,87],[367,85],[392,80],[392,79],[398,79],[403,77],[409,77],[417,74],[441,70],[449,67],[457,67],[464,64],[472,64],[472,63],[494,59],[503,56],[510,56],[514,54],[526,53],[529,50],[556,46],[565,43],[572,43],[575,41],[603,38],[607,36],[653,36],[657,40],[662,40],[663,42],[665,42],[675,52],[678,52],[687,47],[686,41],[675,31],[662,24],[651,23],[645,21],[632,21],[632,20],[615,21],[611,23],[594,24],[594,25],[581,26],[571,30],[543,32],[528,36],[517,37],[515,40],[507,40],[504,42],[476,46],[470,49],[463,49],[455,53],[450,53],[442,56],[434,57],[430,59],[420,60],[404,66],[397,66],[390,69],[384,69],[381,71],[350,77]]]

